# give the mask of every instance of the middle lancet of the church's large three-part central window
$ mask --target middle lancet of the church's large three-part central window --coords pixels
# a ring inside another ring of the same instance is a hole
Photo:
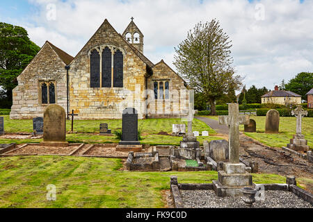
[[[112,55],[111,50],[105,47],[102,51],[102,87],[111,87]]]

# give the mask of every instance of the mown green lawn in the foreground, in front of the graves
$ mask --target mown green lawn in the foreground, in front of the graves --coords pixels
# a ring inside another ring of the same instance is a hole
[[[179,182],[211,183],[216,171],[120,171],[122,160],[87,157],[1,157],[0,207],[165,207],[161,191],[170,176]],[[275,174],[252,174],[255,183],[284,183]],[[47,185],[56,186],[48,201]]]

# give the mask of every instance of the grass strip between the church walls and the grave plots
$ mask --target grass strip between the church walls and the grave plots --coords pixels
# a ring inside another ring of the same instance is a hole
[[[4,117],[4,130],[6,133],[31,133],[33,132],[33,122],[31,119],[10,119],[8,115]],[[74,120],[75,134],[67,134],[68,142],[84,142],[84,143],[118,143],[119,139],[115,136],[99,136],[95,133],[99,133],[99,124],[108,123],[109,128],[114,132],[115,130],[122,130],[121,119],[105,119],[105,120]],[[182,124],[181,119],[139,119],[138,129],[141,130],[142,144],[151,145],[179,145],[182,141],[182,137],[169,136],[172,133],[172,124]],[[187,125],[187,124],[186,124]],[[71,121],[66,122],[67,131],[71,130]],[[187,130],[187,126],[186,126]],[[209,131],[210,137],[198,137],[200,144],[203,144],[204,140],[211,141],[213,139],[220,139],[220,137],[212,137],[216,134],[214,130],[209,128],[206,123],[193,119],[193,130],[202,132],[204,130]],[[158,135],[160,132],[166,132],[169,135]],[[42,139],[1,139],[0,144],[8,144],[16,142],[17,144],[24,143],[37,143]]]

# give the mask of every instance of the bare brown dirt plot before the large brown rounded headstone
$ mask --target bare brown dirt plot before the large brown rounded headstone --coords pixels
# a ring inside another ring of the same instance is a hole
[[[40,146],[40,144],[29,144],[15,151],[7,153],[9,155],[19,155],[19,154],[45,154],[45,155],[70,155],[72,151],[77,149],[80,144],[74,146]]]

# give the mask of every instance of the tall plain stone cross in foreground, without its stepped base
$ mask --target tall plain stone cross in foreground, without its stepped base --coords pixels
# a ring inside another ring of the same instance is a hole
[[[218,117],[220,125],[229,126],[228,146],[230,152],[230,162],[239,163],[239,125],[249,124],[249,116],[239,116],[238,103],[228,104],[228,116]]]

